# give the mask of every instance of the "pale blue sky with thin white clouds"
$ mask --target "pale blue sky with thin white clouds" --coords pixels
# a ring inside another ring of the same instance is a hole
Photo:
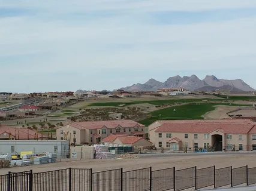
[[[215,75],[256,88],[255,0],[0,0],[0,91]]]

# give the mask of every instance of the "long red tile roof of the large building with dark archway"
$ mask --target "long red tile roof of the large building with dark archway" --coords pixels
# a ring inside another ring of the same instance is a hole
[[[210,133],[220,130],[222,133],[230,134],[247,134],[256,124],[250,120],[189,120],[189,121],[172,121],[158,127],[155,132],[159,133]]]

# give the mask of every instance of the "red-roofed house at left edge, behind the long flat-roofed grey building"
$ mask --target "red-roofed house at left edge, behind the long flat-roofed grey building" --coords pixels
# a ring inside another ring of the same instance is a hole
[[[42,139],[47,137],[41,133],[29,130],[27,128],[14,128],[8,125],[0,124],[0,140],[31,140]]]

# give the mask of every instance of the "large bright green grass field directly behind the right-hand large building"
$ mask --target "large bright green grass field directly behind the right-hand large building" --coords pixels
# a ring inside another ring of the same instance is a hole
[[[203,119],[201,116],[215,109],[216,105],[228,105],[227,103],[201,103],[201,104],[186,104],[182,106],[168,107],[165,109],[156,110],[149,113],[150,118],[138,121],[143,125],[150,125],[156,120],[182,120],[182,119]],[[245,106],[232,104],[231,106]],[[175,112],[173,110],[176,110]],[[160,116],[161,115],[161,116]]]

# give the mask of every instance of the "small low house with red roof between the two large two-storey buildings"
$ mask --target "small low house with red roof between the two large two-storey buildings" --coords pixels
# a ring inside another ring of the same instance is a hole
[[[102,140],[102,144],[108,147],[133,147],[133,146],[152,146],[153,144],[143,137],[129,135],[109,135]]]

